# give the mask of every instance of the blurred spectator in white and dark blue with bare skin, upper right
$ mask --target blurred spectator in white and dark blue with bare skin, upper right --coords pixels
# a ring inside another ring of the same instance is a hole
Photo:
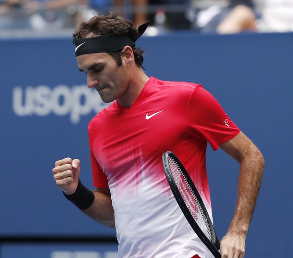
[[[251,0],[231,0],[228,6],[212,5],[197,14],[196,25],[202,32],[220,34],[256,31],[256,14]]]

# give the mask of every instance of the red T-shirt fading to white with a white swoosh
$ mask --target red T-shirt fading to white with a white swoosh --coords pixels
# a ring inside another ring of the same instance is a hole
[[[110,189],[119,258],[213,257],[172,195],[162,154],[181,160],[212,218],[206,146],[216,150],[239,132],[201,85],[154,77],[130,108],[115,101],[92,119],[93,180]]]

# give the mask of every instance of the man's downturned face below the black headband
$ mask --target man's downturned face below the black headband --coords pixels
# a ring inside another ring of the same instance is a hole
[[[127,67],[117,66],[108,53],[84,54],[77,57],[80,71],[86,72],[89,88],[95,88],[105,103],[123,98],[128,87]]]

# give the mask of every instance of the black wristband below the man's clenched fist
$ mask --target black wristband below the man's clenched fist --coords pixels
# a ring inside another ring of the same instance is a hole
[[[80,179],[77,190],[73,195],[66,195],[64,191],[62,192],[67,200],[69,200],[72,204],[76,205],[81,210],[90,208],[95,200],[94,193],[86,186],[84,186]]]

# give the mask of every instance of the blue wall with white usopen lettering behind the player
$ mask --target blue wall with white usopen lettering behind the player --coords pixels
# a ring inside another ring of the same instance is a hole
[[[201,83],[262,151],[266,168],[247,237],[247,257],[290,257],[292,230],[293,34],[142,37],[146,74]],[[105,105],[86,87],[70,38],[0,40],[0,237],[98,236],[115,231],[66,201],[54,162],[82,160],[92,185],[87,125]],[[207,152],[214,224],[233,216],[238,164]]]

